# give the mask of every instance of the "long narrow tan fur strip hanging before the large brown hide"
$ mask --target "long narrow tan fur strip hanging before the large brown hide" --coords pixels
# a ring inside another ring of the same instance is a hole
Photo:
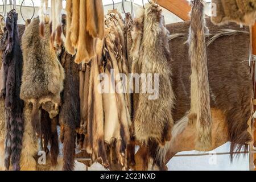
[[[204,35],[208,33],[204,19],[204,2],[192,2],[189,28],[189,58],[191,59],[191,110],[188,118],[195,123],[196,150],[208,150],[211,146],[212,117],[207,68],[207,48]]]

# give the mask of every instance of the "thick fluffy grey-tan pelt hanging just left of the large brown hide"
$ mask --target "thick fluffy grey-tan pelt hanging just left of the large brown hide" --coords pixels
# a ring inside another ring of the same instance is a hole
[[[150,100],[150,93],[142,93],[142,86],[145,83],[142,81],[140,83],[134,127],[136,138],[143,143],[155,140],[164,144],[171,139],[171,127],[174,123],[172,119],[174,92],[169,69],[168,34],[161,8],[155,3],[148,3],[144,10],[143,57],[140,60],[140,73],[154,74],[151,79],[155,78],[155,74],[159,74],[159,90],[158,98]],[[154,83],[152,80],[147,79],[147,81]]]

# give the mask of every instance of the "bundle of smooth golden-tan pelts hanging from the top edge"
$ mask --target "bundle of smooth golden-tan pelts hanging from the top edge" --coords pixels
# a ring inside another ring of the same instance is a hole
[[[96,56],[96,39],[104,38],[104,9],[101,0],[67,1],[67,39],[65,48],[76,63],[89,63]]]

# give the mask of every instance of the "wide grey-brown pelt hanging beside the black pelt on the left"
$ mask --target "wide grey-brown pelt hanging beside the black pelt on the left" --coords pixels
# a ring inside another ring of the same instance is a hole
[[[59,114],[60,92],[63,90],[64,69],[49,44],[49,24],[44,38],[39,35],[39,18],[32,20],[22,36],[24,57],[20,98],[32,103],[32,125],[40,134],[39,110],[46,110],[51,119]]]

